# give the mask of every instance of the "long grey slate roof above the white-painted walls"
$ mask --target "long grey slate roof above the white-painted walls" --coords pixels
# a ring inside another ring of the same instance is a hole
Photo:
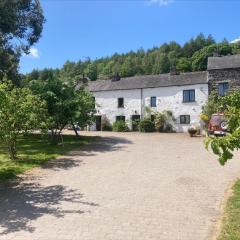
[[[97,80],[88,83],[92,92],[183,86],[207,83],[207,72],[190,72],[179,75],[160,74],[121,78],[119,81]]]

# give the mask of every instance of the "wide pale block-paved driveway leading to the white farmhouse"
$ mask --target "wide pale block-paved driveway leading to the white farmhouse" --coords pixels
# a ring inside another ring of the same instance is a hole
[[[208,239],[239,160],[221,167],[183,134],[102,136],[1,186],[1,240]]]

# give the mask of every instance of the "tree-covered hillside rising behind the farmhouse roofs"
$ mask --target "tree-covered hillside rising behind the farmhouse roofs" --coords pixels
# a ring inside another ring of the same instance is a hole
[[[168,73],[171,69],[178,72],[202,71],[207,68],[207,58],[213,55],[240,53],[240,43],[230,44],[226,40],[216,43],[209,35],[199,34],[183,46],[172,41],[148,50],[140,48],[125,54],[115,53],[111,57],[96,60],[66,61],[61,69],[33,70],[27,80],[48,79],[53,75],[75,82],[83,76],[92,81],[110,79],[115,74],[121,77],[135,75]]]

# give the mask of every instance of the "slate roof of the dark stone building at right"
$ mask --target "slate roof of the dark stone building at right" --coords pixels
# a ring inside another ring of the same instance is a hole
[[[240,68],[240,54],[208,58],[208,70],[229,68]]]

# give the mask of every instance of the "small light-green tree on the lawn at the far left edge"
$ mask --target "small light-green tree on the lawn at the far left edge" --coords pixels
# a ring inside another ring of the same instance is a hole
[[[45,103],[27,88],[0,84],[0,139],[8,148],[10,158],[17,158],[17,140],[22,133],[44,129]]]

